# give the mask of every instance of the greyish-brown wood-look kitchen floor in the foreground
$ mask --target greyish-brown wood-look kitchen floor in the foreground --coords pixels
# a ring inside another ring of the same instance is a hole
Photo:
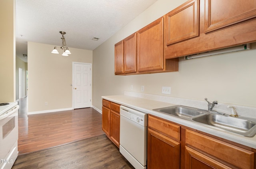
[[[12,169],[134,169],[106,135],[18,156]]]

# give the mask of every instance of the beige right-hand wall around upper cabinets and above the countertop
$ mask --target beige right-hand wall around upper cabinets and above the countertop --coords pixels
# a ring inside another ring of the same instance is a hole
[[[192,60],[180,58],[179,72],[114,76],[114,44],[160,18],[186,0],[158,0],[122,30],[93,51],[93,105],[101,109],[102,95],[124,91],[162,95],[171,87],[173,97],[218,100],[222,103],[256,106],[256,43],[252,50]],[[133,90],[130,89],[133,85]]]

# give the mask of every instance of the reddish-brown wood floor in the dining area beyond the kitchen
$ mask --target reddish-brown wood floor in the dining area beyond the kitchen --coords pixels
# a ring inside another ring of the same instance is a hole
[[[93,108],[26,115],[26,99],[19,105],[19,155],[104,134],[102,115]]]

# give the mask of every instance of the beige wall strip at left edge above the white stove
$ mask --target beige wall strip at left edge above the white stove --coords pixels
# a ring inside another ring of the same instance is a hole
[[[15,0],[0,0],[0,103],[15,98]]]

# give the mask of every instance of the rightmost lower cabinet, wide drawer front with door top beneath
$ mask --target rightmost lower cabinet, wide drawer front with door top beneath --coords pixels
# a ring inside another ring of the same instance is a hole
[[[186,129],[186,168],[254,169],[255,153]],[[190,147],[190,148],[189,148]]]

